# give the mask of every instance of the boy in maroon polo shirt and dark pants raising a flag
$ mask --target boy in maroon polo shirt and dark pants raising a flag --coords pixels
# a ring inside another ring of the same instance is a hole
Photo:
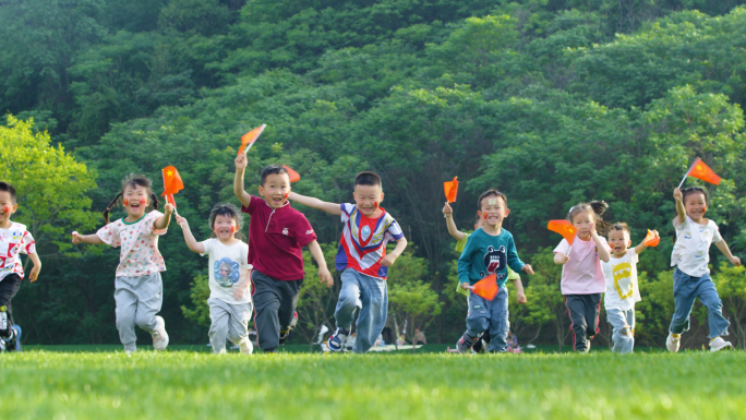
[[[293,326],[298,295],[303,284],[302,248],[309,247],[318,264],[318,278],[327,286],[334,279],[326,267],[316,235],[302,213],[290,206],[288,171],[272,165],[262,171],[258,193],[243,190],[245,154],[236,158],[233,192],[242,204],[241,212],[251,215],[249,224],[249,264],[254,266],[254,308],[258,347],[273,352],[285,343]]]

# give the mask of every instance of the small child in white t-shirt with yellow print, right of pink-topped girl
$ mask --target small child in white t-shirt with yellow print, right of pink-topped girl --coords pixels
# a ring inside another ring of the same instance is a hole
[[[658,236],[658,231],[653,230]],[[631,247],[629,226],[616,223],[609,228],[609,244],[612,254],[609,262],[601,262],[606,279],[606,295],[603,299],[606,319],[612,324],[613,352],[629,353],[635,347],[635,303],[639,302],[637,284],[637,255],[648,249],[645,241]]]

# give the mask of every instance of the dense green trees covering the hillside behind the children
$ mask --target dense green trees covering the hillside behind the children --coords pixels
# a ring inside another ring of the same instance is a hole
[[[87,167],[86,177],[75,178],[81,184],[69,188],[85,194],[75,203],[86,209],[92,203],[93,212],[104,209],[127,173],[143,172],[158,184],[160,168],[175,165],[186,187],[177,196],[179,211],[201,226],[197,239],[209,235],[215,203],[236,202],[238,139],[261,123],[268,128],[250,153],[249,191],[264,165],[285,163],[302,175],[296,191],[351,201],[353,175],[377,171],[383,206],[417,244],[402,260],[401,279],[392,269],[390,310],[426,325],[431,340],[455,339],[466,309],[454,291],[457,255],[441,214],[442,182],[462,181],[454,208],[464,230],[472,229],[477,195],[500,188],[512,208],[505,227],[539,273],[524,277],[529,304],[512,303],[513,326],[521,340],[562,343],[568,320],[560,268],[551,262],[558,236],[545,225],[578,202],[609,202],[609,217],[628,221],[636,243],[648,228],[670,238],[672,190],[701,157],[724,179],[709,187],[708,215],[744,256],[741,3],[5,0],[0,108],[22,121],[33,118],[34,130],[46,130]],[[2,165],[8,173],[4,155]],[[19,221],[32,224],[44,206],[28,202],[33,188],[20,190],[26,201]],[[332,263],[340,224],[302,211],[328,244]],[[86,217],[39,229],[93,230]],[[641,344],[661,345],[665,337],[671,248],[663,240],[641,256]],[[41,280],[25,284],[15,299],[28,341],[117,343],[117,252],[65,249],[56,237],[41,249]],[[204,341],[205,313],[195,301],[204,295],[206,259],[188,251],[176,225],[160,250],[171,339]],[[712,256],[743,346],[746,276],[743,268],[721,268],[717,251]],[[315,269],[306,272],[315,281]],[[297,339],[310,340],[318,322],[329,322],[338,287],[309,289],[301,300],[308,331]],[[695,325],[702,325],[698,316]]]

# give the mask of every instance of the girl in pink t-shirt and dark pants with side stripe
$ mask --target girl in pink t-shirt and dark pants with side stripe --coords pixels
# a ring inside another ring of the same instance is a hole
[[[601,293],[606,288],[601,261],[609,262],[609,243],[599,236],[605,230],[601,219],[609,205],[602,201],[581,203],[570,208],[567,219],[577,229],[573,245],[563,239],[554,249],[554,263],[562,267],[562,295],[570,317],[573,347],[588,352],[590,339],[599,332]]]

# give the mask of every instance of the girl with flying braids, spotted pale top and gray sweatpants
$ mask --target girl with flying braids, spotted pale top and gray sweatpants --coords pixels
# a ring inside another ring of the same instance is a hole
[[[115,279],[117,302],[117,329],[124,351],[137,350],[134,326],[145,329],[153,337],[153,348],[160,351],[168,346],[166,322],[156,315],[164,303],[164,285],[160,272],[166,271],[164,257],[158,251],[158,237],[166,233],[171,221],[173,206],[166,203],[164,213],[158,212],[158,197],[153,183],[142,175],[131,173],[122,180],[122,190],[104,212],[106,226],[94,235],[72,233],[72,243],[121,247]],[[120,203],[127,216],[109,223],[109,212]],[[153,211],[146,212],[153,206]]]

